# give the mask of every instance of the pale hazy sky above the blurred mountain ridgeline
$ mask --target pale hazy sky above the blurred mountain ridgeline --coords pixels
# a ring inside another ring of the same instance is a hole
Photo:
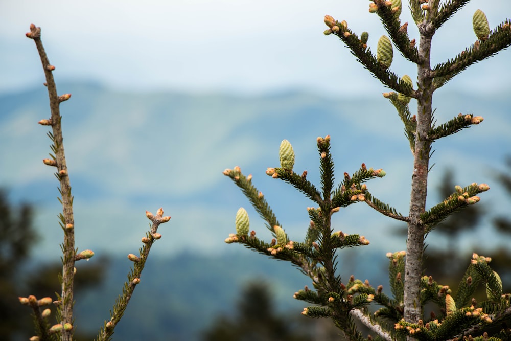
[[[402,22],[410,22],[410,35],[416,38],[407,2],[403,4]],[[455,56],[475,41],[472,15],[477,8],[486,13],[492,28],[511,14],[507,1],[472,1],[435,37],[434,62]],[[376,51],[384,31],[378,16],[368,13],[367,1],[4,0],[0,92],[42,82],[33,42],[24,36],[31,22],[42,28],[61,81],[249,94],[283,87],[333,96],[379,91],[379,82],[357,65],[337,37],[323,36],[325,14],[346,20],[358,34],[368,31],[368,44]],[[402,59],[394,57],[392,70],[413,79],[415,67]],[[489,75],[507,69],[507,60],[505,55],[494,57],[451,83],[462,92],[502,92],[504,78]]]

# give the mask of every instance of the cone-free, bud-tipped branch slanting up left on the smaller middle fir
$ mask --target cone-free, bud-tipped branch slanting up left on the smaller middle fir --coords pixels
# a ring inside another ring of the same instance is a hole
[[[255,211],[259,213],[259,216],[266,221],[266,227],[275,235],[273,226],[278,225],[278,220],[270,209],[268,202],[266,202],[263,193],[259,192],[251,183],[251,177],[247,178],[241,173],[241,169],[237,166],[234,169],[226,169],[223,172],[224,175],[230,177],[236,186],[238,186],[243,194],[250,200],[250,203],[254,207]]]

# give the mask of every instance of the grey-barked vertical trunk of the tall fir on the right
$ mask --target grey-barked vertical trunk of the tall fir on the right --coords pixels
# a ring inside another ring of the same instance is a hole
[[[422,63],[417,65],[417,129],[413,153],[412,188],[410,194],[410,213],[408,238],[406,243],[404,317],[405,321],[417,323],[422,319],[420,302],[420,285],[422,276],[422,259],[424,251],[425,226],[420,215],[426,209],[428,187],[428,170],[431,141],[427,139],[431,128],[433,79],[431,75],[430,52],[433,30],[428,22],[419,25],[421,39],[419,53]]]

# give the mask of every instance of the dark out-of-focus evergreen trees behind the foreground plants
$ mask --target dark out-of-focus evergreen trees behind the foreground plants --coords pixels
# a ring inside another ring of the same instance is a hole
[[[505,162],[511,168],[511,157]],[[508,194],[511,207],[511,175],[504,172],[494,173],[498,184]],[[438,188],[440,197],[448,197],[454,191],[453,172],[447,170]],[[494,185],[494,187],[496,187]],[[460,247],[459,238],[464,232],[476,228],[487,229],[493,226],[499,238],[511,236],[511,218],[494,217],[489,221],[491,210],[484,205],[474,205],[447,218],[436,230],[447,243],[447,248],[430,244],[426,248],[426,272],[438,282],[456,290],[458,283],[453,279],[462,277],[472,251],[492,258],[492,267],[502,276],[505,291],[511,290],[511,253],[503,246],[495,245],[490,239],[484,243],[475,243],[469,247]],[[511,213],[511,210],[510,210]],[[482,224],[481,222],[485,222]],[[400,231],[402,232],[402,230]],[[485,234],[489,231],[484,231]],[[436,236],[438,238],[438,236]],[[0,335],[2,340],[15,341],[32,336],[30,310],[19,304],[18,296],[29,294],[42,298],[54,296],[60,291],[58,277],[62,269],[59,261],[55,263],[36,262],[30,254],[37,242],[33,226],[33,208],[28,203],[9,202],[7,192],[0,190]],[[80,294],[101,285],[108,261],[103,259],[87,267],[80,268],[75,278],[75,293]],[[233,314],[220,314],[201,337],[204,341],[259,341],[286,340],[312,341],[339,339],[338,330],[330,321],[304,319],[299,313],[278,311],[273,305],[272,294],[266,283],[249,283],[240,291]],[[96,335],[75,333],[77,341],[91,340]]]

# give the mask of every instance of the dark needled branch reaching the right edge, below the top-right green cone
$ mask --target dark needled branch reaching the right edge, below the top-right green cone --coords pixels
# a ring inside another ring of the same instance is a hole
[[[431,72],[434,88],[439,88],[451,78],[483,59],[490,58],[511,45],[511,25],[506,19],[490,33],[489,38],[476,41],[455,58],[438,64]]]

